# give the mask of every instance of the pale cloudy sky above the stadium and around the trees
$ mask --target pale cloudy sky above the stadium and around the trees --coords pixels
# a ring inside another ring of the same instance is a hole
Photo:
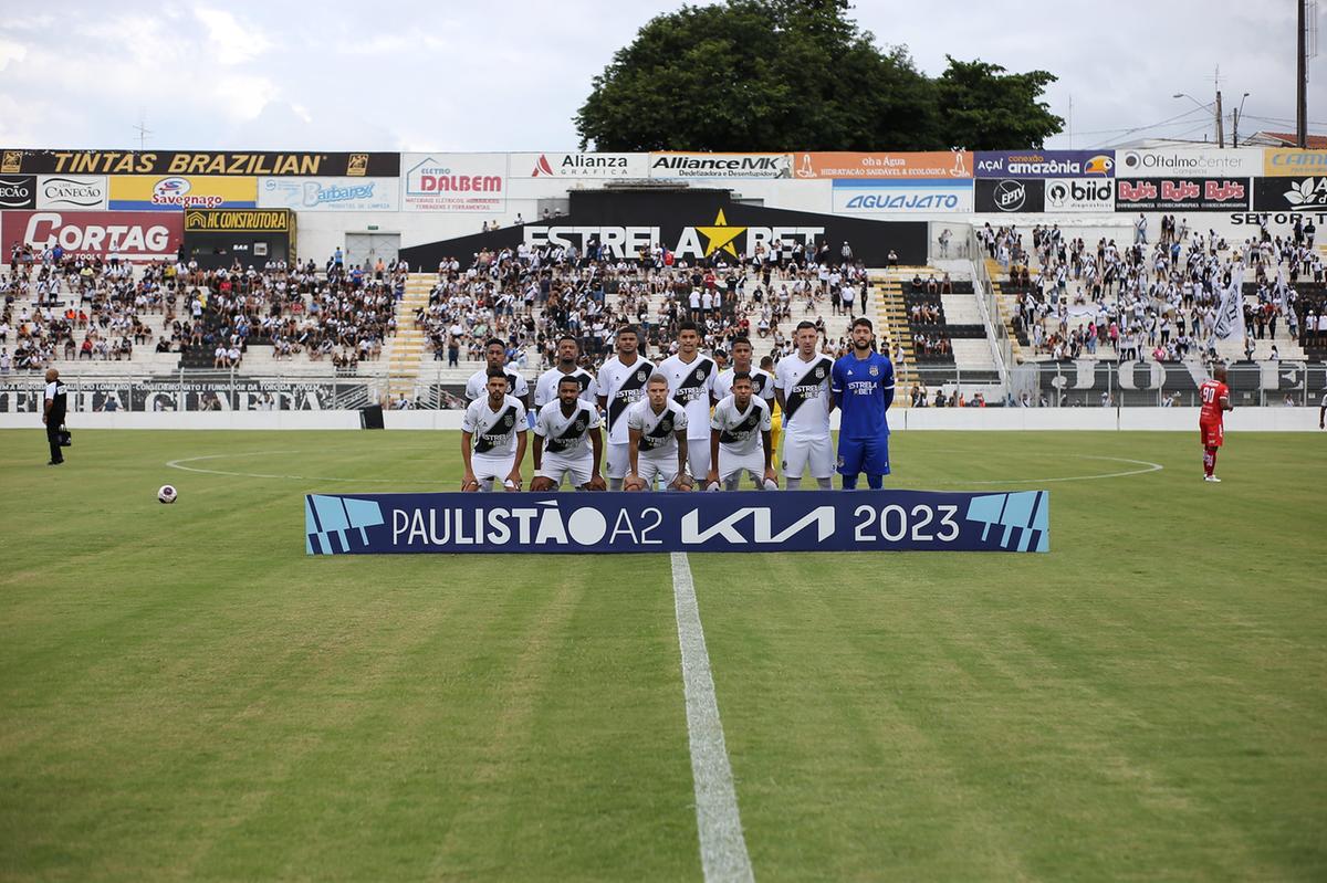
[[[572,115],[660,0],[16,5],[0,19],[0,146],[265,150],[565,150]],[[1220,65],[1241,131],[1294,131],[1295,1],[859,0],[880,45],[936,76],[945,54],[1059,76],[1072,146],[1213,137]],[[1323,45],[1327,52],[1327,45]],[[1308,118],[1327,134],[1327,62]],[[1157,126],[1156,123],[1166,125]],[[1132,130],[1132,131],[1131,131]],[[1229,118],[1227,118],[1227,133]],[[1068,147],[1067,134],[1050,147]]]

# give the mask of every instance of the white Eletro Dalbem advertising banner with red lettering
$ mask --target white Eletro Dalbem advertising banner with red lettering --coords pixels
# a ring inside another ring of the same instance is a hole
[[[402,154],[407,212],[503,212],[507,154]]]

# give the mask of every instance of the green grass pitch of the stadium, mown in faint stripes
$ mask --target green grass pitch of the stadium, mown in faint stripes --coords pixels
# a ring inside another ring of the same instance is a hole
[[[0,432],[0,879],[701,879],[667,556],[305,557],[456,439]],[[756,878],[1327,878],[1324,443],[898,434],[1051,554],[690,556]]]

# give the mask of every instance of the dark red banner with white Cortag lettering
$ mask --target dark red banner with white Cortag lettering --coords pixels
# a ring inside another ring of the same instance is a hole
[[[0,213],[0,251],[58,245],[66,255],[118,256],[131,261],[174,260],[184,233],[183,212],[7,211]]]

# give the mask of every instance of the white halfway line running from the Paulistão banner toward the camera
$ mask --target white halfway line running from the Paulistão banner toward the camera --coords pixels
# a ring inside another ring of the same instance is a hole
[[[705,650],[691,565],[685,552],[674,552],[671,558],[677,639],[682,648],[682,685],[686,693],[686,732],[691,742],[691,778],[695,781],[695,826],[701,834],[701,867],[706,883],[754,880],[751,858],[742,837],[738,795],[733,788],[733,768],[723,744],[719,704],[714,697],[710,654]]]

